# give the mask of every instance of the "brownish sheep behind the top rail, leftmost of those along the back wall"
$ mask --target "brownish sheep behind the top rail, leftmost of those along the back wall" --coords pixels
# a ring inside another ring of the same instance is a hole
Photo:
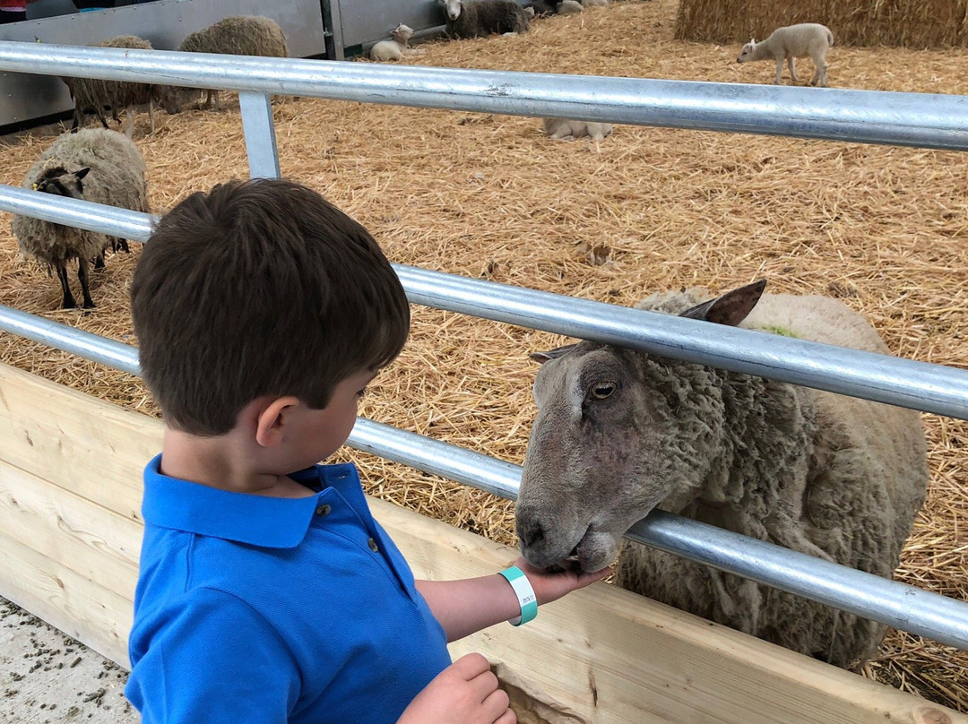
[[[108,38],[95,47],[127,47],[138,50],[151,50],[151,44],[136,35],[119,35]],[[94,112],[102,125],[107,128],[104,110],[111,109],[114,120],[118,120],[117,112],[121,108],[127,111],[127,129],[125,135],[129,138],[135,131],[135,106],[148,104],[148,118],[151,122],[151,133],[155,133],[155,106],[163,106],[167,112],[178,111],[178,103],[174,89],[168,85],[154,85],[137,83],[127,80],[101,80],[99,78],[62,77],[74,100],[74,125],[72,131],[83,128],[87,112]]]

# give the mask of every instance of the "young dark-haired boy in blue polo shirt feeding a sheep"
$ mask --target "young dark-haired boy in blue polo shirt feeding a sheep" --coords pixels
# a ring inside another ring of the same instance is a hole
[[[126,689],[144,724],[513,724],[484,657],[446,643],[527,618],[528,582],[545,603],[608,571],[415,582],[356,469],[316,465],[407,340],[366,229],[298,184],[227,183],[166,214],[131,296],[166,422]]]

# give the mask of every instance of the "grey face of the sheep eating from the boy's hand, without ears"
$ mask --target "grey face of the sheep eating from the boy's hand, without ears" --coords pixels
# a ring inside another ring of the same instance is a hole
[[[671,492],[668,438],[627,350],[583,342],[541,366],[538,414],[515,509],[522,555],[538,567],[598,570],[621,536]]]

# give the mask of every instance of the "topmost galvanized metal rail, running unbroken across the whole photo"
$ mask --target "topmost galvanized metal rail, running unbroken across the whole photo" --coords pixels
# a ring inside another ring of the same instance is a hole
[[[968,150],[968,97],[956,95],[390,67],[14,42],[0,44],[0,70],[395,106]]]

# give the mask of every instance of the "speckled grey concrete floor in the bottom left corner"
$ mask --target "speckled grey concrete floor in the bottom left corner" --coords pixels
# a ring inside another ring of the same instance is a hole
[[[128,672],[0,598],[0,724],[136,724]]]

